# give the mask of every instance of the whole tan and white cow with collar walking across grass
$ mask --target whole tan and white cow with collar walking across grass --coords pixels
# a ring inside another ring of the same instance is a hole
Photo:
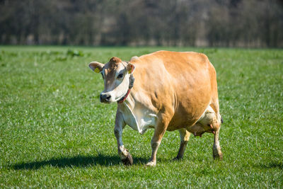
[[[117,102],[114,134],[120,159],[133,160],[122,142],[122,130],[129,125],[144,134],[154,128],[151,158],[146,166],[156,166],[156,152],[166,130],[180,132],[180,148],[175,159],[182,159],[190,134],[214,134],[214,159],[222,159],[219,145],[221,115],[216,71],[206,55],[197,52],[158,51],[129,62],[112,57],[106,64],[91,62],[102,74],[101,103]]]

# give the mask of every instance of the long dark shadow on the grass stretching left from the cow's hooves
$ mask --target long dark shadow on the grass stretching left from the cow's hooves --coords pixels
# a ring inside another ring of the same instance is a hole
[[[74,156],[66,158],[54,158],[44,161],[33,161],[30,163],[21,163],[11,166],[13,169],[38,169],[44,166],[54,166],[54,167],[86,167],[86,166],[114,166],[120,164],[121,160],[119,156],[108,156],[103,154],[98,154],[97,156]],[[134,164],[144,164],[146,159],[135,158]]]

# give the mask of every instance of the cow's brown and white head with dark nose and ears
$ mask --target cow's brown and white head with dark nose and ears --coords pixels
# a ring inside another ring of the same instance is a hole
[[[103,77],[104,90],[100,93],[101,103],[116,102],[125,96],[129,89],[129,76],[134,71],[134,64],[112,57],[107,64],[91,62],[88,66]]]

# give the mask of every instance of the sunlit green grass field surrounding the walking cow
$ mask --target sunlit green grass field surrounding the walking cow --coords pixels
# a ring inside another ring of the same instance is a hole
[[[212,134],[192,136],[171,161],[179,136],[166,132],[146,167],[153,130],[126,127],[134,165],[120,163],[117,104],[99,103],[103,79],[88,63],[156,50],[204,52],[214,64],[223,161],[212,159]],[[0,46],[0,188],[11,187],[283,188],[283,50]]]

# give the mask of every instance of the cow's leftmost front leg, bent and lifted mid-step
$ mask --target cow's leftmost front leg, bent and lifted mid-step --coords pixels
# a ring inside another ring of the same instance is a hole
[[[125,165],[132,165],[133,159],[129,151],[124,147],[122,142],[122,132],[123,128],[125,127],[125,122],[122,118],[121,113],[116,113],[116,120],[115,120],[115,128],[114,134],[117,139],[117,147],[118,147],[118,154]]]

